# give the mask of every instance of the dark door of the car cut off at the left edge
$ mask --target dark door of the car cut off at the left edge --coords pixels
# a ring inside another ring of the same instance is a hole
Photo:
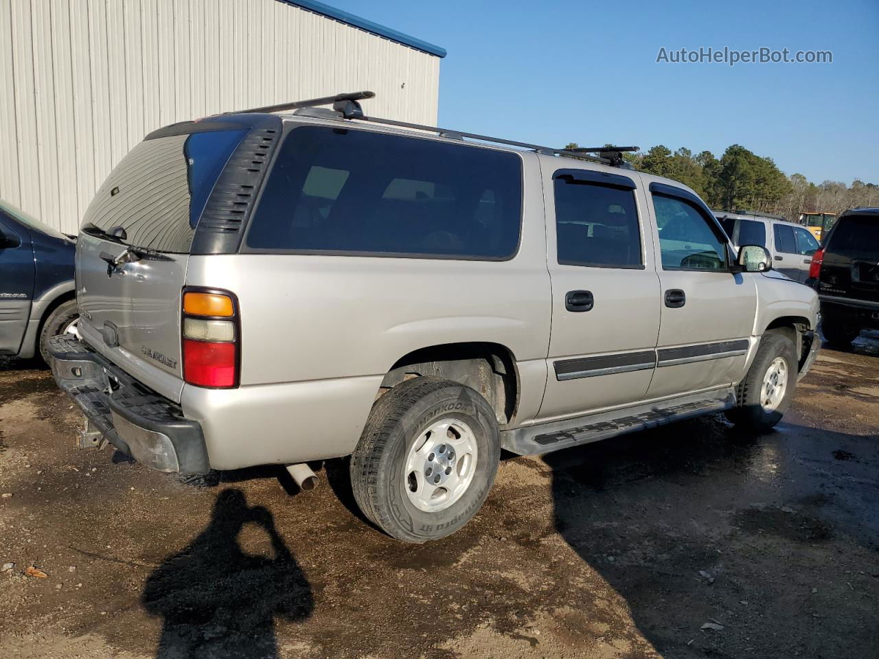
[[[16,354],[33,297],[33,250],[28,232],[0,213],[0,353]]]

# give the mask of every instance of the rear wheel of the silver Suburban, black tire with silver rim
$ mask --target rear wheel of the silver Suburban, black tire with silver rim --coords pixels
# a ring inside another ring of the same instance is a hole
[[[443,437],[439,433],[449,423]],[[437,430],[428,435],[432,428]],[[499,460],[498,422],[483,396],[451,380],[406,380],[373,405],[352,454],[354,499],[374,525],[397,540],[438,540],[482,507]],[[413,464],[418,467],[410,468]],[[428,477],[444,480],[435,485]],[[438,496],[428,498],[431,493]]]

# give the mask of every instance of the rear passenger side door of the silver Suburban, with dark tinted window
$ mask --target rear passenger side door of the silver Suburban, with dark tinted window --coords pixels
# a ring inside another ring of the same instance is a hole
[[[541,420],[634,403],[650,386],[659,279],[638,184],[544,167],[553,303]]]

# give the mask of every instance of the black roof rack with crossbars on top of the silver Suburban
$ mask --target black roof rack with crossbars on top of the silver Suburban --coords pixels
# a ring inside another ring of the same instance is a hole
[[[264,107],[255,107],[250,110],[239,110],[232,112],[234,114],[242,112],[284,112],[287,110],[297,110],[301,108],[316,107],[318,105],[332,105],[332,109],[338,112],[344,119],[358,119],[360,121],[368,121],[374,124],[384,124],[386,126],[396,126],[401,128],[412,128],[414,130],[423,130],[428,133],[436,133],[439,137],[447,137],[453,140],[476,140],[489,141],[496,144],[505,144],[511,147],[527,148],[537,153],[548,156],[568,156],[578,158],[592,163],[607,164],[614,167],[625,167],[628,163],[622,158],[624,151],[637,151],[638,147],[596,147],[596,148],[553,148],[541,147],[539,144],[529,144],[524,141],[505,140],[500,137],[490,137],[489,135],[480,135],[476,133],[464,133],[459,130],[450,128],[440,128],[436,126],[425,126],[423,124],[412,124],[408,121],[396,121],[395,119],[380,119],[378,117],[368,117],[363,113],[359,101],[374,98],[374,91],[354,91],[346,94],[337,94],[336,96],[326,96],[322,98],[309,98],[304,101],[294,101],[292,103],[281,103],[279,105],[265,105]],[[599,154],[592,156],[591,154]]]

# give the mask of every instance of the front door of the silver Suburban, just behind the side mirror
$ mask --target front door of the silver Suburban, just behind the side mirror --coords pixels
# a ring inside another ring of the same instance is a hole
[[[660,257],[662,320],[648,398],[720,387],[738,380],[757,309],[750,274],[730,272],[727,238],[690,192],[651,184]]]

